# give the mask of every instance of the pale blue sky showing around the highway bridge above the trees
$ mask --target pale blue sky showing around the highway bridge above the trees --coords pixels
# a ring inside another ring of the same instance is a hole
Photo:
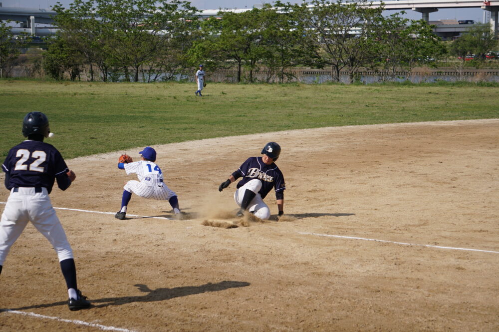
[[[0,0],[4,7],[25,7],[25,8],[50,8],[56,2],[68,6],[72,0]],[[264,2],[273,3],[274,1],[264,0],[191,0],[191,4],[198,9],[218,9],[218,8],[251,8],[253,5]],[[287,1],[283,1],[287,2]],[[291,3],[301,2],[301,0],[289,0]],[[393,13],[395,11],[388,11]],[[421,19],[421,13],[406,10],[404,15],[410,19]],[[440,19],[473,19],[476,22],[483,22],[484,10],[480,8],[462,8],[462,9],[439,9],[430,13],[430,20]]]

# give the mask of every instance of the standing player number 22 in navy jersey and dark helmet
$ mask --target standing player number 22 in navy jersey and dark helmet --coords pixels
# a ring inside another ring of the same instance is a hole
[[[49,133],[45,114],[28,113],[22,123],[22,134],[27,140],[11,148],[2,164],[10,195],[0,221],[0,273],[10,247],[31,221],[57,253],[68,289],[68,306],[74,311],[90,307],[90,302],[76,285],[73,252],[48,195],[55,180],[59,189],[66,190],[76,175],[68,169],[59,151],[43,142]]]

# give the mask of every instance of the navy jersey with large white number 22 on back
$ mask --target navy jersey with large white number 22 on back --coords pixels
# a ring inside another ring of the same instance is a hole
[[[7,154],[2,164],[5,172],[5,187],[45,187],[52,191],[57,178],[58,187],[66,190],[71,184],[67,176],[69,169],[60,152],[44,142],[26,140]]]

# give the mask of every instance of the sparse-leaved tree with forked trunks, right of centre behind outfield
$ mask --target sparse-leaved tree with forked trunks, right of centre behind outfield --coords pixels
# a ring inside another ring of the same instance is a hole
[[[353,80],[356,71],[372,56],[370,38],[383,7],[370,8],[364,0],[312,0],[295,4],[292,10],[299,13],[303,26],[303,61],[319,68],[331,66],[336,81],[340,80],[340,71],[348,67]]]

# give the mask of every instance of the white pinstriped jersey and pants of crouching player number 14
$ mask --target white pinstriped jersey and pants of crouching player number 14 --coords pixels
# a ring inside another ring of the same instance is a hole
[[[156,200],[169,200],[175,196],[175,192],[170,190],[163,182],[163,172],[158,165],[148,160],[140,160],[123,165],[127,175],[137,174],[139,181],[130,180],[124,189],[144,198],[154,198]]]

